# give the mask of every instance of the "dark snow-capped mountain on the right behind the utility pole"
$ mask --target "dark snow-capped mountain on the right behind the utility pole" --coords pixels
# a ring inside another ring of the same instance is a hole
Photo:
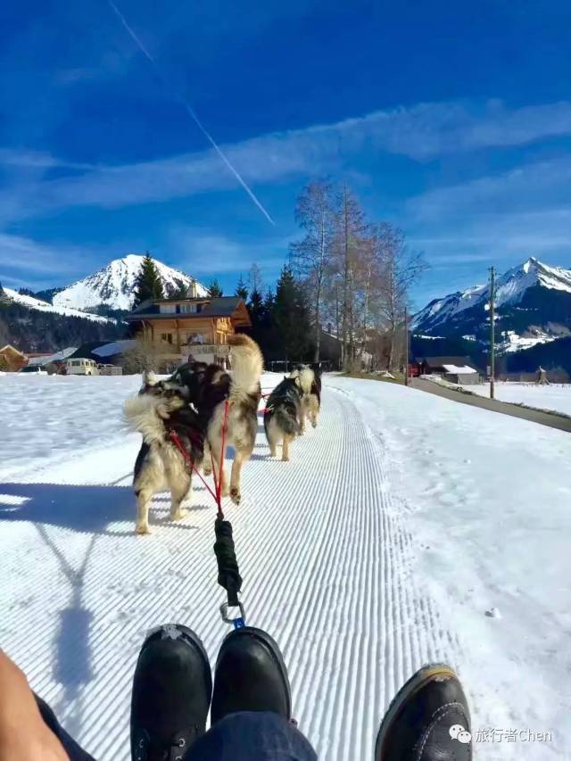
[[[426,336],[486,341],[489,285],[434,299],[413,318],[412,329]],[[571,334],[571,270],[531,257],[496,280],[496,325],[505,351],[547,343]]]

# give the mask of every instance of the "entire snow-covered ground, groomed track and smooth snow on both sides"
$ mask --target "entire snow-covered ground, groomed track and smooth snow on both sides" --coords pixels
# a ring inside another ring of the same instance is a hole
[[[153,534],[133,532],[140,439],[121,403],[138,385],[0,377],[2,647],[101,761],[128,758],[145,632],[191,625],[212,663],[228,633],[203,486],[181,522],[161,494]],[[254,452],[243,503],[225,505],[243,600],[284,650],[294,716],[320,758],[370,759],[394,692],[434,660],[458,669],[476,737],[552,733],[477,742],[477,761],[571,757],[568,434],[326,376],[319,426],[292,461],[270,459],[263,433]]]

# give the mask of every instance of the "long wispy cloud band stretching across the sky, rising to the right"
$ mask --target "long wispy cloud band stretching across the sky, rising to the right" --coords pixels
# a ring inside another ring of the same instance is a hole
[[[355,154],[371,148],[426,161],[446,153],[524,145],[561,135],[571,135],[571,103],[518,109],[500,101],[420,103],[221,147],[248,184],[263,186],[343,169]],[[236,187],[236,179],[212,151],[120,166],[78,167],[85,169],[79,176],[30,183],[18,204],[8,203],[8,189],[0,195],[4,217],[24,218],[82,205],[118,208]],[[433,203],[437,199],[434,196]]]

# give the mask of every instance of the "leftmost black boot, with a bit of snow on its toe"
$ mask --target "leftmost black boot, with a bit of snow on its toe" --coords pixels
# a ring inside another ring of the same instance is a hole
[[[205,732],[211,694],[211,667],[194,632],[167,624],[149,634],[133,679],[133,761],[182,761]]]

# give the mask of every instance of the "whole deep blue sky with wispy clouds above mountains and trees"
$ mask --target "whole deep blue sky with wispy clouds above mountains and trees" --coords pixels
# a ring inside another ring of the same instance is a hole
[[[228,292],[252,261],[271,283],[325,175],[426,253],[418,307],[491,264],[571,267],[567,2],[118,7],[159,72],[106,0],[0,10],[4,285],[145,250]]]

